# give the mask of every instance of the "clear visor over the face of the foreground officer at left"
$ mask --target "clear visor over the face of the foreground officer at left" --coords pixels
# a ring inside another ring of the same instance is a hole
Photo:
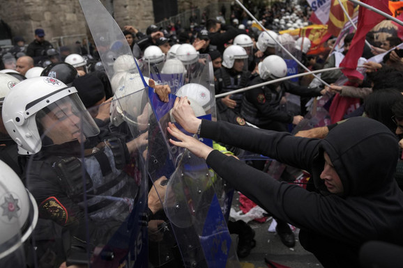
[[[43,139],[43,146],[62,144],[96,136],[100,130],[77,93],[53,102],[36,113],[36,124]]]

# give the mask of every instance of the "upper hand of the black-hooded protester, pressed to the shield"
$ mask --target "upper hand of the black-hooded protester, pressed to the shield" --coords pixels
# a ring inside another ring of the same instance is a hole
[[[177,97],[172,108],[172,115],[176,123],[181,125],[187,132],[196,134],[202,120],[195,116],[195,112],[190,107],[188,97]]]

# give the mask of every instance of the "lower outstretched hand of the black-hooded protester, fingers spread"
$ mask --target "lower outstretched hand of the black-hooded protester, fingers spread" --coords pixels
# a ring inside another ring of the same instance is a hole
[[[172,136],[174,136],[176,139],[179,141],[174,141],[173,139],[169,139],[169,142],[172,143],[173,145],[176,145],[181,148],[186,148],[190,150],[194,155],[197,157],[202,157],[204,159],[207,159],[208,155],[210,154],[211,151],[213,151],[213,148],[208,147],[206,144],[202,143],[201,141],[188,136],[181,132],[181,130],[176,127],[176,125],[172,123],[168,123],[168,132]]]

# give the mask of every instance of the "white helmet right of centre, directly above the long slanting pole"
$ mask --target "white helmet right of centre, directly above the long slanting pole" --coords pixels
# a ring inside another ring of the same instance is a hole
[[[276,79],[287,75],[287,63],[277,55],[271,55],[264,58],[257,65],[259,68],[259,76],[261,79]]]

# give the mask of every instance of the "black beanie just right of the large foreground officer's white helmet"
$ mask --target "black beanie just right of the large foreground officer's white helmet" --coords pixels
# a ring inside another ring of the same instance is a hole
[[[105,88],[96,75],[85,74],[82,77],[77,77],[72,86],[77,89],[79,98],[86,108],[93,107],[105,97]]]

